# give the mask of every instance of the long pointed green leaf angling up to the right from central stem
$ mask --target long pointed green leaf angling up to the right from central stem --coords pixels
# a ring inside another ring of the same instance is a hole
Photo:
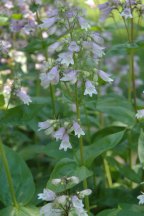
[[[109,149],[114,148],[118,143],[121,141],[125,131],[121,131],[115,134],[110,134],[108,136],[102,137],[101,139],[98,139],[94,142],[94,144],[91,144],[89,146],[84,147],[84,159],[85,164],[87,167],[89,167],[92,162],[104,153],[105,151],[108,151]],[[77,158],[80,158],[79,151],[77,152]]]

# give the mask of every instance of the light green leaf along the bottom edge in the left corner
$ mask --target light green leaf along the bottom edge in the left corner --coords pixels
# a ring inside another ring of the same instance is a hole
[[[0,211],[1,216],[39,216],[39,209],[36,207],[20,206],[19,209],[15,207],[7,207]]]

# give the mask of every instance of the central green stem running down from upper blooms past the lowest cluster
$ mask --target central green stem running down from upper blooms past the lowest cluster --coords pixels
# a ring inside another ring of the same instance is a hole
[[[76,103],[77,121],[78,121],[79,125],[81,125],[77,83],[75,84],[75,103]],[[83,150],[83,138],[82,138],[82,136],[80,136],[80,139],[79,139],[79,146],[80,146],[80,162],[81,162],[81,165],[84,166],[85,163],[84,163],[84,150]],[[84,189],[88,188],[86,179],[83,181],[83,188]],[[88,197],[85,197],[85,206],[86,206],[88,215],[90,215],[90,206],[89,206],[89,198]]]

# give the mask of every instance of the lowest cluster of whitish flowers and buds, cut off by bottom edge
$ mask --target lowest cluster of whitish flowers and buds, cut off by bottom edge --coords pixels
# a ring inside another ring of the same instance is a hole
[[[62,179],[52,179],[52,184],[59,186],[60,184],[65,187],[70,184],[78,184],[79,178],[76,176],[64,177]],[[72,195],[57,194],[54,191],[45,188],[43,193],[38,194],[38,199],[50,202],[44,205],[40,209],[40,215],[42,216],[62,216],[62,215],[77,215],[87,216],[87,212],[84,209],[82,199],[85,196],[89,196],[92,193],[90,189],[82,190]]]

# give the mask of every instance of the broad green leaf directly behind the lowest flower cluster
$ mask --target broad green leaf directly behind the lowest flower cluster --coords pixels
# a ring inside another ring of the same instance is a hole
[[[54,190],[56,192],[62,192],[65,190],[64,186],[58,185],[55,186],[51,183],[52,179],[55,178],[62,178],[64,176],[71,177],[71,176],[77,176],[81,181],[84,179],[92,176],[92,171],[87,169],[85,166],[78,166],[76,162],[72,159],[64,158],[60,160],[54,170],[52,171],[50,175],[50,180],[47,183],[47,188]],[[73,187],[74,185],[68,185],[68,188]]]

